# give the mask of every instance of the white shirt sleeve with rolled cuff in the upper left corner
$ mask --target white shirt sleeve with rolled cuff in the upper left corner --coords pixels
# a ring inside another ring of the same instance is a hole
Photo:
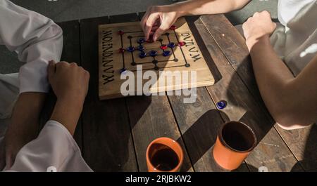
[[[61,27],[39,13],[0,0],[0,44],[27,62],[20,68],[20,93],[49,91],[46,67],[49,60],[61,58]]]

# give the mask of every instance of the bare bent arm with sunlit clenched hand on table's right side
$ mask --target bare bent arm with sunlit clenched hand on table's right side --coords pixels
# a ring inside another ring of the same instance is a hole
[[[317,56],[294,77],[271,46],[270,35],[276,24],[270,13],[254,13],[242,28],[259,91],[273,119],[285,129],[315,122]]]

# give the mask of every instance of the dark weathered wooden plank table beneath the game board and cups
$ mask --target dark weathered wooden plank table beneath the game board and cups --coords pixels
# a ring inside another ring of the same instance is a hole
[[[62,60],[77,62],[90,72],[89,93],[75,140],[94,171],[147,171],[145,152],[151,140],[178,140],[185,152],[181,171],[225,171],[213,161],[211,149],[225,121],[243,121],[254,128],[259,144],[235,171],[316,171],[316,125],[296,131],[275,126],[261,100],[244,39],[224,15],[189,17],[191,28],[209,68],[213,86],[197,88],[197,101],[182,96],[98,98],[98,25],[138,21],[143,13],[61,22]],[[218,109],[219,100],[228,106]],[[42,124],[54,107],[50,93]]]

